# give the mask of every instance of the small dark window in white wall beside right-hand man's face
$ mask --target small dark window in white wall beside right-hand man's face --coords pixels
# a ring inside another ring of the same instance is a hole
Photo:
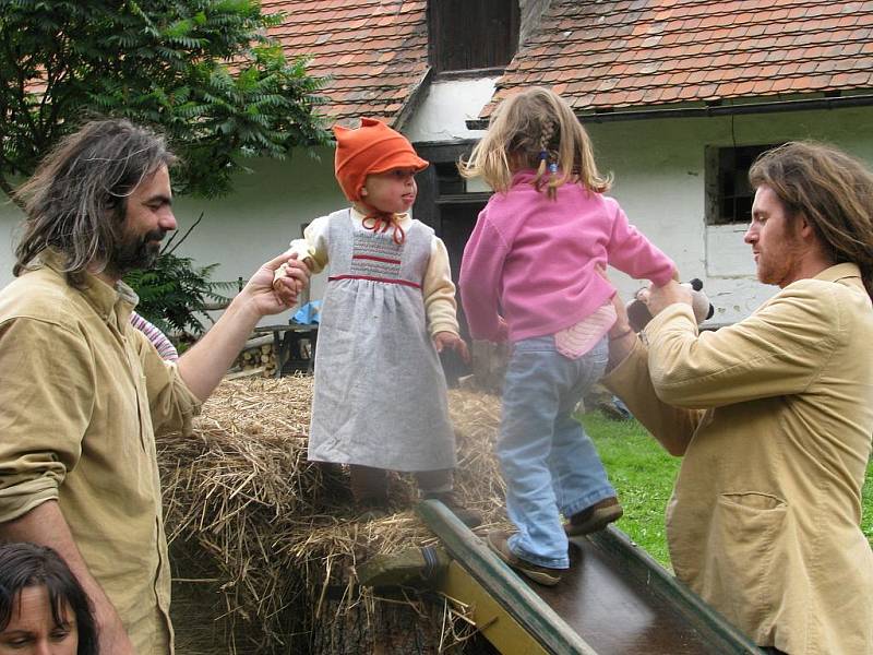
[[[758,155],[777,145],[707,148],[707,225],[749,223],[752,219],[755,192],[749,183],[749,169]]]

